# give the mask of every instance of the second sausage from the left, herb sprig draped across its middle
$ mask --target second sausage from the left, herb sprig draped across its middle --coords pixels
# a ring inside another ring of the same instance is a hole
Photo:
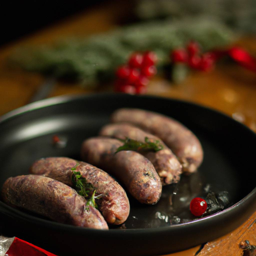
[[[72,187],[72,170],[78,162],[68,157],[48,157],[36,161],[30,173],[44,175]],[[108,223],[123,223],[130,212],[130,204],[124,189],[106,172],[85,162],[79,162],[77,172],[96,188],[97,205]]]

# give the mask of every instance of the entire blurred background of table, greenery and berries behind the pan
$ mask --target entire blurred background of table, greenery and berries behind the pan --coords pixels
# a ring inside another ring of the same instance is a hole
[[[0,12],[1,115],[118,91],[193,101],[256,130],[254,0],[9,1]]]

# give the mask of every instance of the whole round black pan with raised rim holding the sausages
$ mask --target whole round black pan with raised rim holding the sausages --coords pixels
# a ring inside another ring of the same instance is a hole
[[[109,122],[110,114],[121,107],[163,113],[192,130],[205,152],[198,173],[182,176],[177,187],[164,187],[161,200],[154,206],[141,205],[129,196],[131,213],[125,222],[126,229],[74,227],[13,209],[0,201],[2,233],[58,255],[158,255],[222,236],[255,211],[255,134],[214,110],[151,96],[102,93],[56,97],[4,115],[0,123],[1,186],[10,176],[28,174],[30,165],[38,158],[79,159],[81,142],[97,135],[102,125]],[[67,139],[65,147],[52,145],[55,134]],[[193,197],[205,196],[207,188],[215,193],[227,191],[231,206],[195,219],[189,212],[189,202]],[[176,196],[174,190],[178,191]]]

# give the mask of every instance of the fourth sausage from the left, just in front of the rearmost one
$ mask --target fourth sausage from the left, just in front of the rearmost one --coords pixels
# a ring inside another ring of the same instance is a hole
[[[105,125],[101,129],[99,135],[110,136],[121,140],[125,140],[127,137],[141,142],[145,141],[145,137],[148,137],[151,142],[156,140],[160,141],[164,147],[162,150],[140,153],[148,158],[154,165],[163,186],[179,181],[180,174],[182,173],[182,166],[173,152],[158,137],[125,123]]]

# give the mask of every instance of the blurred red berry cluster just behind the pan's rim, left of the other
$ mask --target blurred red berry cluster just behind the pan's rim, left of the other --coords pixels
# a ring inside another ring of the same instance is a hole
[[[149,78],[156,74],[156,61],[157,56],[152,51],[147,51],[143,55],[132,54],[127,65],[119,67],[116,71],[118,79],[115,82],[115,91],[145,93]]]

